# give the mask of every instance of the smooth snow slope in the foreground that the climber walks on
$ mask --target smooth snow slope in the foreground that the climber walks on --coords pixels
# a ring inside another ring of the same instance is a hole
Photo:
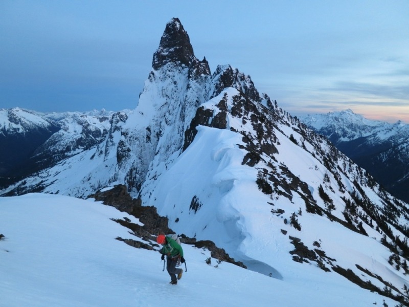
[[[187,272],[177,286],[160,254],[115,238],[128,229],[111,218],[135,217],[90,200],[27,194],[0,198],[0,305],[33,306],[394,306],[342,277],[307,268],[298,278],[270,278],[183,244]],[[353,237],[349,239],[353,240]],[[279,247],[279,246],[278,246]],[[262,248],[262,247],[261,247]],[[348,251],[345,251],[347,253]],[[184,269],[184,267],[183,267]],[[285,273],[285,268],[280,268]],[[286,274],[284,274],[286,275]]]

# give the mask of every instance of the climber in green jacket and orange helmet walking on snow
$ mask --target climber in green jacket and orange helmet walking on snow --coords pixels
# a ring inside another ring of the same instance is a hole
[[[177,284],[177,279],[182,277],[183,270],[176,269],[176,265],[179,258],[181,263],[185,262],[185,258],[183,257],[183,249],[174,239],[163,234],[156,237],[156,242],[163,245],[162,249],[159,251],[162,254],[161,259],[165,260],[165,255],[167,256],[166,270],[170,275],[170,283]]]

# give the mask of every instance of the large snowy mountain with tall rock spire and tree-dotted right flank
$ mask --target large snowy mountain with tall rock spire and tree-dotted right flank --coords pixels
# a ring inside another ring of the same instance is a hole
[[[60,160],[0,194],[86,198],[124,184],[174,231],[213,240],[251,270],[298,286],[326,280],[317,296],[349,280],[363,289],[354,305],[374,303],[370,291],[407,301],[408,205],[249,76],[230,65],[211,74],[177,18],[137,108],[107,118],[90,124],[95,143],[52,143]]]

